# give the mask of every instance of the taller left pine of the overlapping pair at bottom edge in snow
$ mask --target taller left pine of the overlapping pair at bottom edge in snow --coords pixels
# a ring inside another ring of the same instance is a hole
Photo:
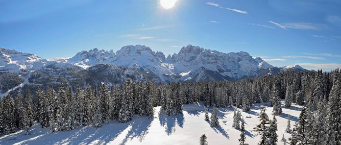
[[[268,115],[265,113],[266,108],[263,107],[261,110],[261,113],[258,117],[260,123],[253,128],[252,131],[257,132],[257,136],[261,136],[261,141],[258,143],[258,145],[270,145],[268,144],[269,138],[270,138],[270,128],[268,124],[270,124],[270,121],[268,119]]]

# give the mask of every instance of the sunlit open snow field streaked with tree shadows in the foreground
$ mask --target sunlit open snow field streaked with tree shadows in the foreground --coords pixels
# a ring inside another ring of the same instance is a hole
[[[258,116],[263,104],[252,106],[251,111],[242,112],[245,120],[246,141],[250,145],[257,145],[260,136],[256,136],[251,130],[259,123]],[[291,115],[291,127],[298,121],[302,107],[293,105],[284,107],[283,114],[277,116],[278,121],[278,145],[283,145],[282,134],[287,139],[291,134],[284,130],[287,126],[287,117]],[[207,136],[209,145],[239,145],[240,131],[232,128],[233,111],[236,108],[218,108],[219,123],[221,127],[212,128],[208,121],[204,121],[205,107],[202,103],[183,105],[183,114],[177,116],[158,116],[160,107],[154,107],[155,117],[149,120],[146,117],[134,116],[133,121],[119,123],[111,121],[104,123],[102,127],[78,126],[72,131],[60,131],[50,133],[48,128],[41,128],[35,124],[30,130],[31,135],[24,135],[24,131],[0,137],[0,145],[198,145],[202,134]],[[242,111],[242,110],[241,110]],[[272,107],[267,107],[270,119]],[[212,112],[212,108],[209,109]],[[211,116],[211,114],[209,115]],[[251,118],[246,118],[246,117]],[[11,140],[15,138],[14,140]]]

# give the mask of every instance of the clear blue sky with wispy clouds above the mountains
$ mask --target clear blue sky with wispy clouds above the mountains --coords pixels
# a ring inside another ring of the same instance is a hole
[[[0,47],[43,58],[146,45],[246,51],[274,66],[341,67],[340,0],[0,0]]]

